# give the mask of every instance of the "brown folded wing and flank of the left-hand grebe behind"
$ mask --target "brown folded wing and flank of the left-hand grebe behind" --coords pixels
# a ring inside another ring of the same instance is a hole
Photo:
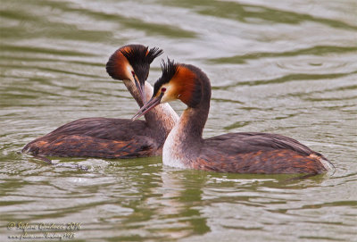
[[[86,118],[71,121],[29,142],[22,152],[62,157],[147,156],[156,150],[153,147],[157,144],[145,128],[145,121]]]

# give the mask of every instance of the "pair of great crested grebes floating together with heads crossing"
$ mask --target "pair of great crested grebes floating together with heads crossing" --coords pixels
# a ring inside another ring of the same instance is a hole
[[[36,156],[103,158],[162,154],[163,163],[174,167],[240,173],[316,174],[334,169],[323,155],[280,135],[232,133],[203,139],[211,99],[209,79],[193,65],[169,61],[162,65],[162,77],[153,91],[145,80],[160,54],[157,48],[123,46],[106,65],[109,75],[123,80],[139,106],[152,97],[135,116],[145,114],[145,121],[72,121],[31,141],[22,151]],[[188,106],[180,119],[165,104],[175,99]]]

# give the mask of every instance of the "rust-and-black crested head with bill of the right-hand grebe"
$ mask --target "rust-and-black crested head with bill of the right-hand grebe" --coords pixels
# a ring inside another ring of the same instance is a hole
[[[162,77],[154,84],[152,98],[132,120],[137,120],[158,104],[177,99],[187,104],[188,107],[196,107],[201,103],[203,96],[203,83],[200,79],[202,75],[204,73],[193,65],[174,63],[170,59],[167,63],[162,62]]]

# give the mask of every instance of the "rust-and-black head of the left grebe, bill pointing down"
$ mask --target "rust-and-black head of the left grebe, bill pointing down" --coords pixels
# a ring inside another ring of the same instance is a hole
[[[162,53],[162,49],[157,47],[122,46],[109,58],[106,71],[112,79],[131,81],[145,103],[145,80],[149,76],[150,64]]]

